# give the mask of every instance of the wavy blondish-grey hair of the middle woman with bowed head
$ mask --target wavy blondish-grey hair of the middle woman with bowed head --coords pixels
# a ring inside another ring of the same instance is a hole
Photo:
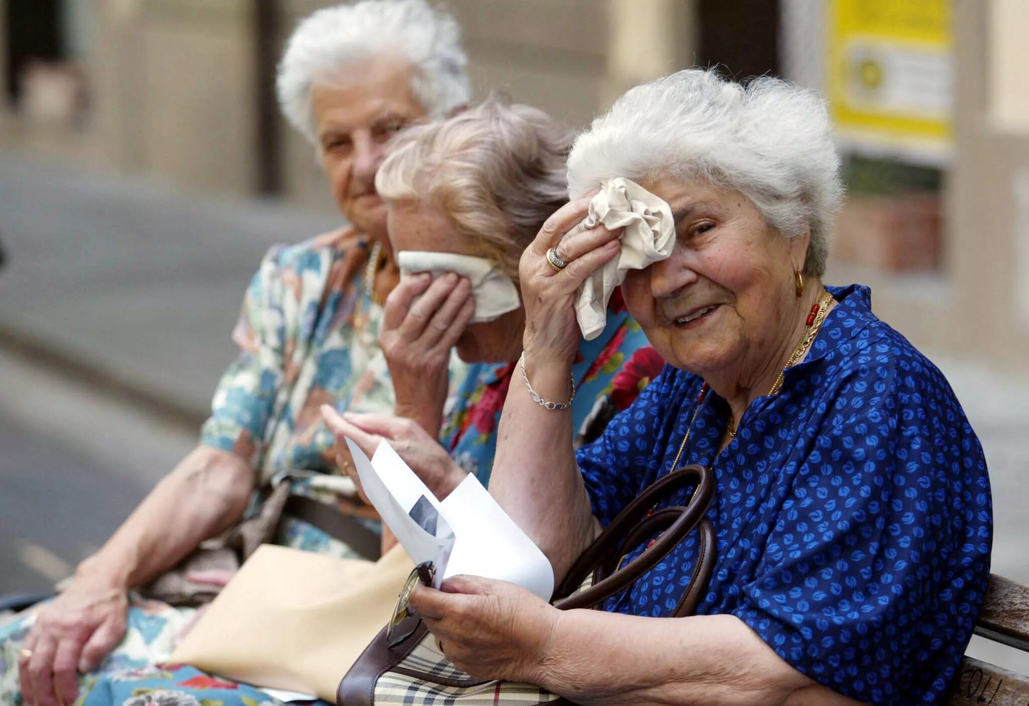
[[[387,200],[439,208],[517,282],[522,252],[568,201],[570,144],[569,132],[543,111],[493,97],[400,133],[376,174],[376,190]]]

